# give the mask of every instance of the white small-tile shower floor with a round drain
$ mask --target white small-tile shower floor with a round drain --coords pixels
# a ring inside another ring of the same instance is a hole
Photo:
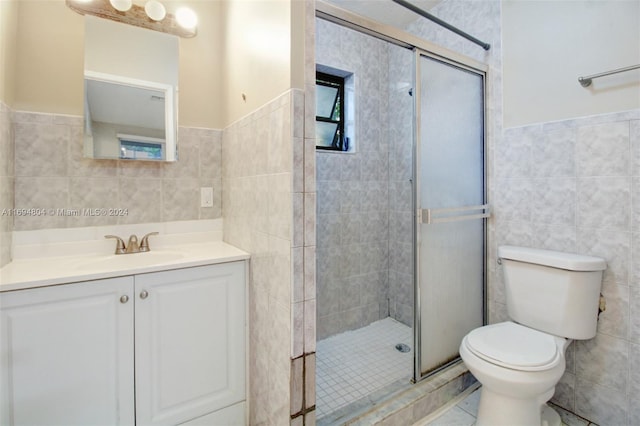
[[[404,343],[409,352],[395,346]],[[318,419],[398,381],[411,379],[413,333],[385,318],[328,337],[316,346],[316,415]]]

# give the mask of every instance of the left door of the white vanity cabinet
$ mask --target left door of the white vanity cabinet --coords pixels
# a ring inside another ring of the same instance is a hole
[[[0,293],[0,424],[133,425],[133,278]]]

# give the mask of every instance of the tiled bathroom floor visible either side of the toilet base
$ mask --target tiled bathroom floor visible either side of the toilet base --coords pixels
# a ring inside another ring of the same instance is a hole
[[[476,421],[480,389],[465,392],[429,417],[414,426],[472,426]],[[595,423],[576,416],[562,408],[550,404],[560,414],[564,426],[597,426]]]

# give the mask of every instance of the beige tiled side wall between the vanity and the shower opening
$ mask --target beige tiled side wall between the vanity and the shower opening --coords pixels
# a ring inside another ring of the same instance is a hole
[[[224,240],[251,253],[251,424],[289,414],[292,253],[291,95],[224,130]]]

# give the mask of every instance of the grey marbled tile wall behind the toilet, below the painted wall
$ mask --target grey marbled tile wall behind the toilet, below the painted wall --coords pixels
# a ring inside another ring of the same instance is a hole
[[[553,401],[599,424],[640,424],[640,110],[505,129],[494,163],[496,246],[607,260],[598,334],[569,347]],[[493,278],[500,321],[499,268]]]

